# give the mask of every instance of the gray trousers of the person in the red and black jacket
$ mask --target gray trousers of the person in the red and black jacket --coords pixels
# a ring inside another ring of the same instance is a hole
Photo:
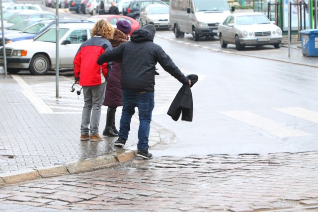
[[[105,99],[105,90],[106,82],[96,86],[83,86],[85,104],[81,117],[81,135],[90,134],[91,136],[93,136],[98,133],[101,106]]]

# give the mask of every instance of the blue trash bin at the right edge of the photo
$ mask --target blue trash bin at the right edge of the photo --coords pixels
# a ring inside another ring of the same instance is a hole
[[[303,55],[318,57],[318,29],[306,29],[300,31],[302,35]]]

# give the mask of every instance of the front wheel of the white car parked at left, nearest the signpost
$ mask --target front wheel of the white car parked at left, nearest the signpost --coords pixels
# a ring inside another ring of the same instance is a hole
[[[45,75],[49,71],[49,59],[45,55],[33,56],[30,63],[30,72],[34,75]]]

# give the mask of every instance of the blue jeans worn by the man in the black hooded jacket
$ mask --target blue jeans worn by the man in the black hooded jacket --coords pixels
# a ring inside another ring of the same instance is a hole
[[[120,118],[118,136],[124,140],[128,139],[131,118],[135,114],[135,107],[138,108],[139,129],[137,149],[148,148],[150,122],[155,107],[154,92],[140,93],[130,90],[122,90],[123,112]]]

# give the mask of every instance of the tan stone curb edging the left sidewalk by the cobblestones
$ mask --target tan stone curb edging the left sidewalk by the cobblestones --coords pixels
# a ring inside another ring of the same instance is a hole
[[[0,187],[29,180],[56,177],[66,174],[76,174],[113,167],[120,163],[133,160],[136,154],[137,150],[119,150],[107,155],[68,162],[65,165],[55,165],[20,172],[12,172],[0,176]]]

